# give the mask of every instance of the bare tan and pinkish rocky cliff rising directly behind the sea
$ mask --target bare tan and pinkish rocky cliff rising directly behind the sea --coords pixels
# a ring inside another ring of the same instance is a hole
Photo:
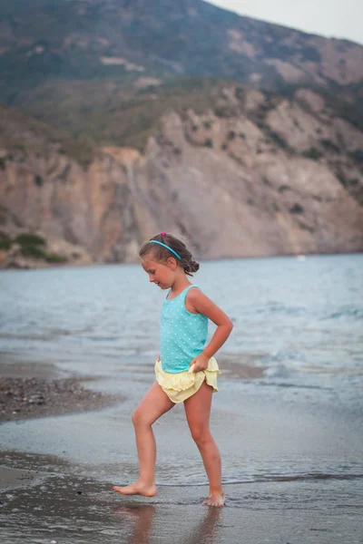
[[[0,199],[98,261],[133,261],[160,230],[199,257],[361,251],[363,132],[309,89],[226,83],[216,100],[164,114],[143,153],[104,146],[86,169],[56,147],[3,150]]]

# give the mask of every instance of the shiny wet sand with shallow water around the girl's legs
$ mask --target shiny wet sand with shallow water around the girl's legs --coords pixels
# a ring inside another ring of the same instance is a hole
[[[361,544],[361,413],[334,396],[254,387],[252,366],[224,367],[211,427],[225,508],[201,505],[208,487],[182,406],[154,427],[158,495],[112,491],[137,477],[130,415],[152,380],[152,370],[142,381],[121,373],[113,384],[87,382],[123,395],[103,410],[1,425],[2,543]]]

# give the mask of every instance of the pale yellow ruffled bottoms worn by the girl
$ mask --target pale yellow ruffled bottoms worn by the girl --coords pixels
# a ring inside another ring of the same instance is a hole
[[[155,375],[157,383],[162,387],[162,391],[168,395],[172,403],[183,403],[192,394],[197,393],[201,384],[206,381],[213,388],[213,393],[218,391],[217,375],[221,374],[217,361],[211,357],[208,366],[200,372],[193,372],[193,366],[190,370],[171,374],[162,370],[162,362],[156,361]]]

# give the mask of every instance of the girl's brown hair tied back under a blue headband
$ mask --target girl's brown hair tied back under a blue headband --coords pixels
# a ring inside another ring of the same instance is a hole
[[[168,248],[173,249],[181,258],[175,257],[172,251],[163,248],[159,244],[152,244],[152,240],[162,242]],[[174,257],[178,266],[183,268],[187,276],[192,276],[194,272],[199,270],[199,263],[193,260],[191,252],[184,242],[179,238],[175,238],[172,234],[162,232],[151,238],[149,242],[143,244],[139,252],[140,257],[146,257],[149,253],[152,253],[152,257],[158,262],[165,262],[169,257]]]

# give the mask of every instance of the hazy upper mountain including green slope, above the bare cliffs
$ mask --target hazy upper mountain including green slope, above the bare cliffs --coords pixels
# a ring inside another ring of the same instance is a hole
[[[195,78],[230,79],[288,97],[308,86],[363,129],[358,44],[201,0],[0,0],[0,102],[63,131],[83,164],[94,144],[142,151],[165,109],[157,101],[157,112],[145,112],[143,90],[153,87],[158,97],[158,86],[171,83],[182,87],[183,102],[192,102]],[[169,94],[165,106],[174,102]]]

